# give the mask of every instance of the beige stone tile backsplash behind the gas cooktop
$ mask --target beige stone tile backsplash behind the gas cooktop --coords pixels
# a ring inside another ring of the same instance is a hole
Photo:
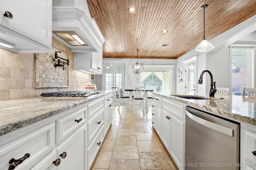
[[[54,60],[55,51],[62,51],[58,56],[69,59],[70,65],[64,64],[64,71],[63,67],[54,67],[58,62]],[[40,65],[41,71],[37,73]],[[91,76],[74,70],[73,65],[74,54],[55,39],[52,39],[52,53],[15,53],[0,48],[0,101],[37,97],[52,91],[83,90]]]

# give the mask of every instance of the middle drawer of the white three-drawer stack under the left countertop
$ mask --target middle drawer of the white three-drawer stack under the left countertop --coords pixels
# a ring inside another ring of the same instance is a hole
[[[104,124],[103,111],[104,109],[101,109],[97,115],[88,121],[88,144],[92,142],[100,127]]]

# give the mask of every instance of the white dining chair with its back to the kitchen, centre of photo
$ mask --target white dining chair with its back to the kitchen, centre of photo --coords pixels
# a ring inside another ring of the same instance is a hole
[[[134,86],[133,87],[133,97],[132,97],[132,112],[134,112],[135,100],[140,101],[140,106],[142,104],[142,111],[145,107],[145,86]]]

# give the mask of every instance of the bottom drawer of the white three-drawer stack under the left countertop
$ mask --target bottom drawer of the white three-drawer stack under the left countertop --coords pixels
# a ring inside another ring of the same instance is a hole
[[[90,169],[90,167],[92,166],[94,158],[96,157],[98,150],[100,149],[100,146],[103,142],[103,138],[104,138],[103,128],[104,128],[104,125],[100,128],[100,131],[98,132],[98,134],[96,135],[96,137],[94,138],[94,140],[92,141],[92,143],[87,149],[88,150],[88,169]]]

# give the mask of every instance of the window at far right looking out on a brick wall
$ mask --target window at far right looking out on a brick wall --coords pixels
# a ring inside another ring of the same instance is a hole
[[[232,94],[241,95],[242,88],[253,87],[254,50],[250,47],[231,47]]]

